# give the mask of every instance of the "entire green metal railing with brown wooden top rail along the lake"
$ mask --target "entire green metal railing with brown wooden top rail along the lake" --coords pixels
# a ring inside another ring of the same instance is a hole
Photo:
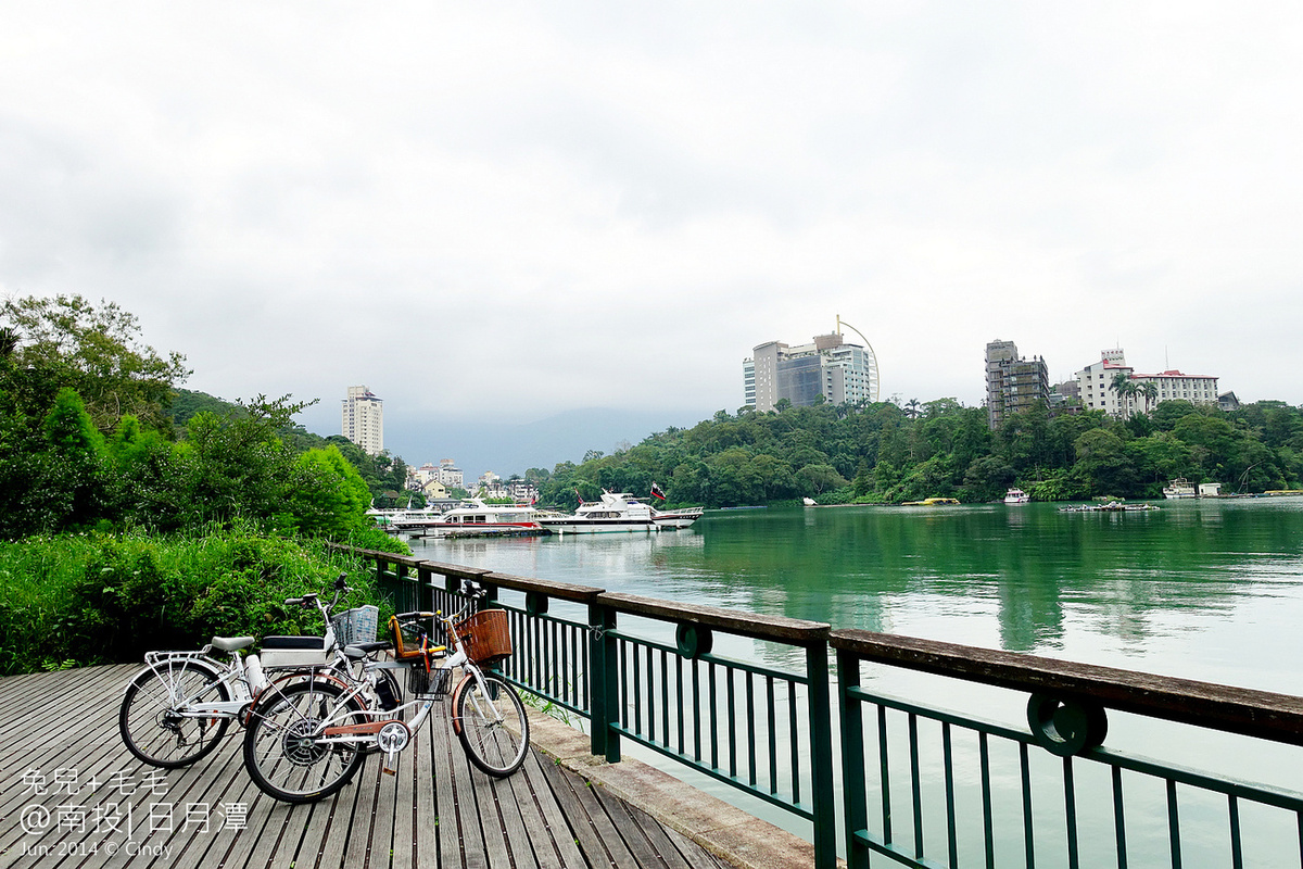
[[[1303,795],[1102,747],[1106,709],[1303,745],[1303,698],[364,555],[396,610],[480,582],[511,619],[503,674],[588,719],[594,754],[629,740],[807,822],[821,869],[839,843],[851,866],[1240,868],[1263,810],[1303,866]],[[870,691],[883,667],[1022,692],[1028,727]]]

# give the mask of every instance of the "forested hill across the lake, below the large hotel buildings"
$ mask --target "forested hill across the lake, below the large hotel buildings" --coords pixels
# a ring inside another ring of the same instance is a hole
[[[986,502],[1018,485],[1037,500],[1098,495],[1158,498],[1174,477],[1225,491],[1298,487],[1303,409],[1259,401],[1222,413],[1165,401],[1118,421],[1102,412],[1049,416],[1044,408],[989,431],[985,408],[951,399],[863,408],[823,404],[782,412],[721,410],[612,456],[562,463],[542,479],[543,503],[573,506],[602,489],[645,496],[655,482],[670,504],[735,507],[814,498],[898,503],[930,496]]]

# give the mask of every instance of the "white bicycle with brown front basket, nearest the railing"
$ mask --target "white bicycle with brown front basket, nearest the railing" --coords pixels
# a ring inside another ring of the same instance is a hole
[[[468,608],[473,608],[474,593]],[[390,620],[394,661],[361,661],[354,646],[345,654],[361,663],[360,679],[314,679],[271,685],[254,705],[245,731],[245,767],[268,796],[285,803],[311,803],[344,787],[364,756],[380,752],[384,771],[397,770],[399,754],[412,741],[434,704],[448,693],[453,668],[463,677],[452,688],[452,728],[466,757],[489,775],[504,778],[525,762],[529,719],[525,706],[506,680],[481,668],[511,654],[507,614],[485,610],[403,612]],[[421,625],[440,619],[453,645],[430,645]],[[435,662],[442,666],[435,666]],[[374,685],[395,668],[408,671],[408,691],[416,696],[394,709],[369,700]],[[370,689],[370,691],[369,691]],[[405,713],[416,710],[410,720]]]

